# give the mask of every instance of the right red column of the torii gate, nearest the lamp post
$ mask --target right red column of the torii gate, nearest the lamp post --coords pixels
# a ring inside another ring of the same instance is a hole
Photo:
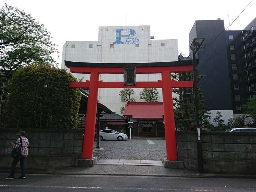
[[[162,94],[167,160],[177,161],[178,152],[172,103],[172,85],[170,71],[162,72]]]

